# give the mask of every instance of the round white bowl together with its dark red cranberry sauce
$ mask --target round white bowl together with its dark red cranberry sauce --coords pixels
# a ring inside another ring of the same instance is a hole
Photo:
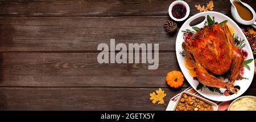
[[[190,8],[184,1],[174,1],[169,7],[169,15],[175,21],[183,21],[188,18]]]

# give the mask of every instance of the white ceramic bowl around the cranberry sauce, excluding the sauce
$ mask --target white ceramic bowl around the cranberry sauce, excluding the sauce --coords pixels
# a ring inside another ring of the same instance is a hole
[[[177,19],[177,18],[174,18],[174,16],[172,16],[172,7],[174,7],[174,5],[177,5],[177,4],[184,5],[186,7],[186,10],[187,10],[186,15],[183,18],[181,18],[181,19]],[[168,12],[169,12],[169,15],[170,15],[171,19],[173,19],[175,21],[183,21],[183,20],[188,18],[188,15],[189,15],[189,12],[190,12],[190,8],[188,6],[188,3],[184,2],[184,1],[174,1],[169,6]]]

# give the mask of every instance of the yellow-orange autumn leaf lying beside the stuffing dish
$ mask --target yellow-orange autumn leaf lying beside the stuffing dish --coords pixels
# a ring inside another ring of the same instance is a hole
[[[158,90],[155,90],[155,91],[157,94],[155,94],[155,92],[150,93],[150,99],[153,100],[152,103],[155,104],[156,102],[158,102],[158,104],[164,104],[163,98],[166,97],[164,90],[159,88]]]

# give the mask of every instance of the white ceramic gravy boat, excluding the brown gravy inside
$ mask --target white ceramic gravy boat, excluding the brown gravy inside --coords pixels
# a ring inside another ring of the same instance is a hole
[[[253,19],[247,21],[247,20],[243,20],[240,15],[238,14],[237,12],[237,8],[236,6],[234,6],[233,2],[236,1],[236,2],[240,2],[242,3],[243,6],[247,7],[251,13],[253,14]],[[256,14],[255,14],[255,11],[253,10],[253,8],[249,5],[247,5],[246,3],[244,2],[241,2],[240,0],[230,0],[232,6],[231,6],[231,14],[233,16],[233,18],[238,22],[238,23],[241,23],[243,25],[251,25],[252,27],[254,27],[256,29]]]

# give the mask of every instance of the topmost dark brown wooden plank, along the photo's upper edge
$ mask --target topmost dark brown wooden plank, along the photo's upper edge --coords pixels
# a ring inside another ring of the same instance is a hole
[[[120,15],[168,15],[168,7],[175,0],[1,0],[0,16],[120,16]],[[185,0],[191,15],[197,14],[195,5],[208,1]],[[244,2],[256,8],[253,0]],[[229,1],[214,0],[214,11],[230,14]]]

